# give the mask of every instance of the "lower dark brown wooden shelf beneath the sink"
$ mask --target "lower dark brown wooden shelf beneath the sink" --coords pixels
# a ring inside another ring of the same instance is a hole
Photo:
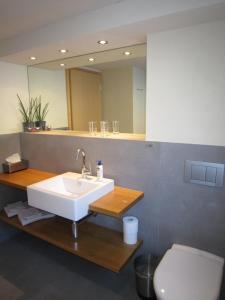
[[[2,211],[0,220],[116,273],[142,244],[139,240],[135,245],[126,245],[122,233],[90,222],[79,225],[79,236],[75,240],[72,222],[60,217],[22,226],[17,217],[8,218]]]

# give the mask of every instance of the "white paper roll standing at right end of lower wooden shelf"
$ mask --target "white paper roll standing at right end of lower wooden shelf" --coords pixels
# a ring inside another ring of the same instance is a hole
[[[138,219],[127,216],[123,218],[123,241],[128,245],[137,243]]]

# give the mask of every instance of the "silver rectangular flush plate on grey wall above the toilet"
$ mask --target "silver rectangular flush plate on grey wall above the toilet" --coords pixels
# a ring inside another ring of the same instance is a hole
[[[184,181],[208,186],[223,186],[224,165],[203,161],[185,161]]]

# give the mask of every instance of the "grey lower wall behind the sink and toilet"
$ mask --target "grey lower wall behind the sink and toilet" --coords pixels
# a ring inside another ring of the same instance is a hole
[[[144,199],[127,212],[140,220],[142,251],[161,255],[176,242],[225,255],[225,187],[183,180],[186,159],[224,164],[224,147],[21,134],[24,158],[46,171],[80,172],[78,147],[86,150],[94,172],[101,159],[105,177],[144,191]],[[120,229],[122,224],[100,215],[93,221]]]

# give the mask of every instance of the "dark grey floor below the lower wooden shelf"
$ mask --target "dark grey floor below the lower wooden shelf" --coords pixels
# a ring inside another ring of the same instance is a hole
[[[0,299],[139,298],[132,264],[117,275],[20,233],[0,244]]]

